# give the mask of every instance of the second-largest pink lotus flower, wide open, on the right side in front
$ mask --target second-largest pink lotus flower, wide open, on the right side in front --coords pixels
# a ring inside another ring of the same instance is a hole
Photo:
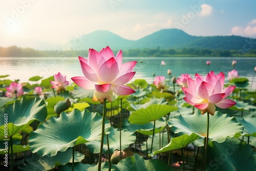
[[[201,110],[202,114],[209,112],[214,115],[216,111],[215,105],[219,108],[230,108],[236,102],[226,99],[227,96],[236,88],[236,86],[224,87],[225,74],[223,72],[215,75],[213,71],[205,77],[199,74],[195,75],[195,80],[188,78],[187,86],[182,90],[186,97],[183,99]]]

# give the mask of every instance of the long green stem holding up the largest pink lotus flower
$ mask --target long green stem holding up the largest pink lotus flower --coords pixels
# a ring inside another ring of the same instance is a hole
[[[104,134],[105,134],[105,116],[106,116],[106,99],[104,99],[104,101],[103,101],[103,114],[102,114],[102,125],[101,125],[101,141],[100,141],[98,171],[101,170],[101,158],[102,158]]]

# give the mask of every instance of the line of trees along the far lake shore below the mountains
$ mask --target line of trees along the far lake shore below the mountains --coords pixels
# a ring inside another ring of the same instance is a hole
[[[119,50],[114,50],[116,54]],[[250,50],[246,53],[236,50],[211,50],[211,49],[129,49],[123,50],[124,57],[230,57],[230,56],[256,56],[256,50]],[[19,48],[11,46],[7,48],[0,47],[0,57],[87,57],[88,50],[47,50],[40,51],[31,48]]]

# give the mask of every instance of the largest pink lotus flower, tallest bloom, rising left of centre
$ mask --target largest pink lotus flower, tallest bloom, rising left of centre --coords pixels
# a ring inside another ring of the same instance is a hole
[[[88,59],[79,56],[83,76],[71,78],[78,86],[94,90],[93,101],[103,99],[112,101],[113,92],[117,95],[129,95],[135,91],[124,84],[130,81],[136,72],[132,72],[137,61],[122,63],[122,51],[116,57],[107,46],[100,52],[89,49]]]

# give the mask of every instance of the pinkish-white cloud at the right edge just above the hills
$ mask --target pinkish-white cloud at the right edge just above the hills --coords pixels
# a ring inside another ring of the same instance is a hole
[[[249,36],[255,37],[256,36],[256,27],[247,26],[245,29],[240,26],[233,27],[231,29],[231,34],[239,35],[239,36]]]

